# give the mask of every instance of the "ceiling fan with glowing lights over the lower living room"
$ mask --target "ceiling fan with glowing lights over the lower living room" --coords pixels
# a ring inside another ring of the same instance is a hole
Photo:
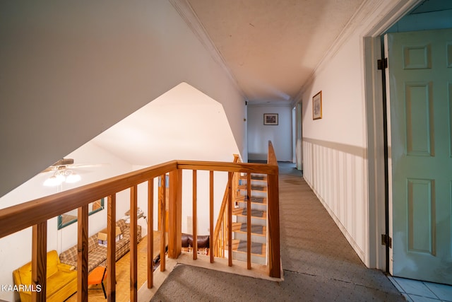
[[[76,168],[88,168],[88,167],[99,167],[100,164],[94,165],[83,165],[74,164],[73,158],[61,158],[56,163],[53,163],[42,171],[42,173],[53,172],[52,176],[44,181],[44,186],[55,187],[61,185],[63,182],[74,183],[81,180],[81,176],[77,174],[74,169]]]

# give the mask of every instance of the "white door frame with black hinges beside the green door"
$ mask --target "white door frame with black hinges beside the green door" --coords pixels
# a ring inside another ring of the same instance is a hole
[[[369,240],[368,267],[392,272],[391,249],[381,244],[381,234],[391,236],[392,213],[388,204],[391,184],[387,175],[387,142],[383,130],[385,116],[383,115],[383,76],[384,70],[377,67],[381,59],[381,36],[400,18],[405,16],[422,0],[398,0],[385,16],[374,20],[367,33],[364,33],[362,49],[364,54],[364,99],[367,125],[367,173],[369,194]],[[392,237],[392,236],[391,236]]]

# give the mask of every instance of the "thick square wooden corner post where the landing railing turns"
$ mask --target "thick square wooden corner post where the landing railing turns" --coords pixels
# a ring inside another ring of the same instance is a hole
[[[182,250],[182,169],[169,172],[168,257],[176,259]]]

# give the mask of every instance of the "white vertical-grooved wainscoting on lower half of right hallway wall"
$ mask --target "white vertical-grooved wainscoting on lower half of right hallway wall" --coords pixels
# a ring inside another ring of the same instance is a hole
[[[364,261],[367,240],[367,164],[364,149],[303,139],[304,180]]]

